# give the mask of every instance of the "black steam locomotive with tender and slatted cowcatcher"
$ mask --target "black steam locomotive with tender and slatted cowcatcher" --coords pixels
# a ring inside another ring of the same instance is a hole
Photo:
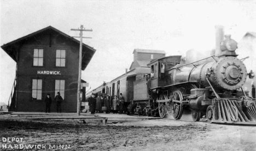
[[[209,123],[255,125],[255,98],[242,89],[247,76],[253,78],[254,74],[247,73],[245,64],[237,58],[237,43],[231,35],[223,40],[222,30],[216,32],[214,56],[187,64],[182,64],[181,56],[162,57],[150,62],[147,72],[137,72],[130,82],[129,73],[123,75],[126,90],[132,82],[132,111],[181,119],[183,110],[189,109],[195,122],[206,116]],[[105,86],[109,88],[115,81]]]

